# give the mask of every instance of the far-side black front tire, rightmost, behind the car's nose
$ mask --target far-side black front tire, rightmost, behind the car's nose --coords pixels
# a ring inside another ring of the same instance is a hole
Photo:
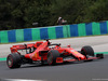
[[[81,54],[83,54],[83,55],[90,55],[90,56],[94,56],[94,50],[92,49],[92,46],[90,46],[90,45],[86,45],[86,46],[83,46],[82,49],[81,49]]]

